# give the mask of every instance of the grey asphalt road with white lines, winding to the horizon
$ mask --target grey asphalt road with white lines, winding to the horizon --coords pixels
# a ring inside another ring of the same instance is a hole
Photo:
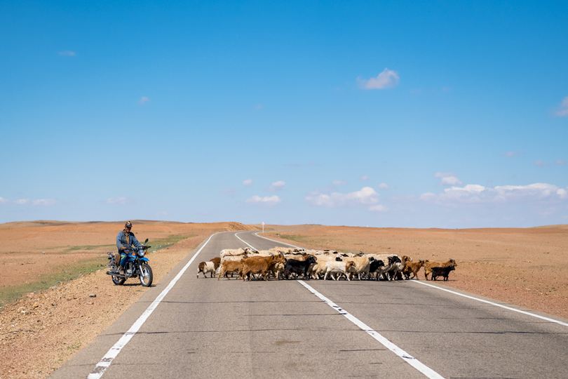
[[[441,284],[196,279],[198,262],[247,244],[283,245],[255,232],[213,235],[50,378],[568,377],[567,319]],[[105,354],[116,357],[101,364]]]

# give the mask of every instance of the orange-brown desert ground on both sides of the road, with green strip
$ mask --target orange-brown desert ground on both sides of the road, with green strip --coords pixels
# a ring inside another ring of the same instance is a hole
[[[154,283],[210,234],[262,229],[238,222],[133,224],[139,240],[149,238],[156,246],[148,255]],[[116,249],[122,227],[123,222],[0,225],[0,379],[46,378],[140,298],[146,290],[140,282],[130,279],[118,287],[105,274],[105,252]],[[458,267],[445,285],[568,317],[568,262],[562,259],[567,225],[477,230],[265,225],[265,231],[266,237],[306,248],[453,258]]]

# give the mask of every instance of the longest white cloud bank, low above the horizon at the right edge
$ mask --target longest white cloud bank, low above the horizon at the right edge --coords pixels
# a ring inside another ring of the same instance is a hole
[[[466,185],[444,189],[443,193],[426,192],[420,200],[439,205],[459,206],[467,204],[504,204],[558,201],[567,199],[565,189],[546,183],[532,185],[503,185],[494,188],[482,185]]]

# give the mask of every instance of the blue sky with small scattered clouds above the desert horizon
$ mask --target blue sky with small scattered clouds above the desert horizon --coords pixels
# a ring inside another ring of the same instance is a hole
[[[0,2],[0,222],[568,224],[565,1]]]

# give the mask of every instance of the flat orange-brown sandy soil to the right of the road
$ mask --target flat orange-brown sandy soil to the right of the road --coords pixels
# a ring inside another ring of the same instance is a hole
[[[452,258],[458,266],[447,286],[568,318],[568,225],[471,230],[322,226],[267,232],[266,237],[309,248],[395,253],[413,260]],[[419,279],[424,280],[424,269]]]

